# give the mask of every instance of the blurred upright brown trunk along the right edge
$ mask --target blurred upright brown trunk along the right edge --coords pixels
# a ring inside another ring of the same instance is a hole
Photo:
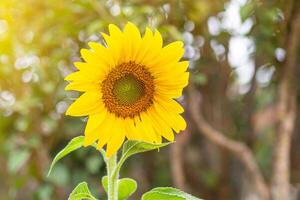
[[[297,4],[297,1],[294,1]],[[287,57],[279,84],[278,132],[273,150],[272,196],[274,200],[290,199],[290,148],[296,118],[296,91],[294,87],[297,48],[300,39],[300,3],[294,5],[286,34]]]

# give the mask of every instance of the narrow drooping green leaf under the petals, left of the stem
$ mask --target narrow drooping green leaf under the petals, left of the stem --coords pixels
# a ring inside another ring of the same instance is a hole
[[[65,157],[66,155],[68,155],[69,153],[79,149],[80,147],[83,146],[83,140],[84,140],[84,136],[78,136],[78,137],[75,137],[73,138],[68,144],[67,146],[61,150],[54,158],[54,160],[52,161],[51,163],[51,166],[50,166],[50,169],[49,169],[49,172],[48,172],[48,175],[50,175],[54,165],[60,160],[62,159],[63,157]]]

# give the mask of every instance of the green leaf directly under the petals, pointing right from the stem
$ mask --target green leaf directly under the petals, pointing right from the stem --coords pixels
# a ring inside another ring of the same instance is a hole
[[[130,156],[137,154],[137,153],[143,153],[146,151],[159,149],[159,148],[167,146],[171,143],[172,142],[153,144],[153,143],[142,142],[142,141],[137,141],[137,140],[127,140],[123,145],[122,157],[117,165],[117,170],[119,170],[121,168],[121,166],[123,165],[125,160],[127,158],[129,158]]]

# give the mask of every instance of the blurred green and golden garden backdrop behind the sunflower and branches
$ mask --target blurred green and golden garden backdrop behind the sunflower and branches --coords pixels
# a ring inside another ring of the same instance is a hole
[[[285,41],[294,2],[0,0],[0,199],[67,199],[81,181],[103,199],[105,166],[92,148],[64,158],[49,178],[46,173],[55,154],[85,126],[85,118],[64,115],[78,95],[64,91],[64,77],[75,70],[72,63],[80,60],[87,42],[102,42],[100,32],[107,32],[108,24],[122,27],[127,21],[142,32],[146,26],[157,28],[165,44],[185,42],[190,84],[202,94],[203,115],[229,138],[244,142],[269,181],[274,110],[289,56]],[[299,86],[294,90],[299,96]],[[185,97],[179,101],[188,107]],[[177,143],[126,163],[121,175],[139,183],[132,199],[154,186],[176,186],[205,199],[250,199],[243,165],[199,134],[188,111],[184,116],[189,127],[177,135]],[[294,134],[295,185],[299,143]]]

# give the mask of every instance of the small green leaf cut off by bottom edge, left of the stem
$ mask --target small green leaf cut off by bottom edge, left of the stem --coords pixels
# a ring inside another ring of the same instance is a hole
[[[68,200],[96,200],[86,182],[79,183],[71,192]]]

